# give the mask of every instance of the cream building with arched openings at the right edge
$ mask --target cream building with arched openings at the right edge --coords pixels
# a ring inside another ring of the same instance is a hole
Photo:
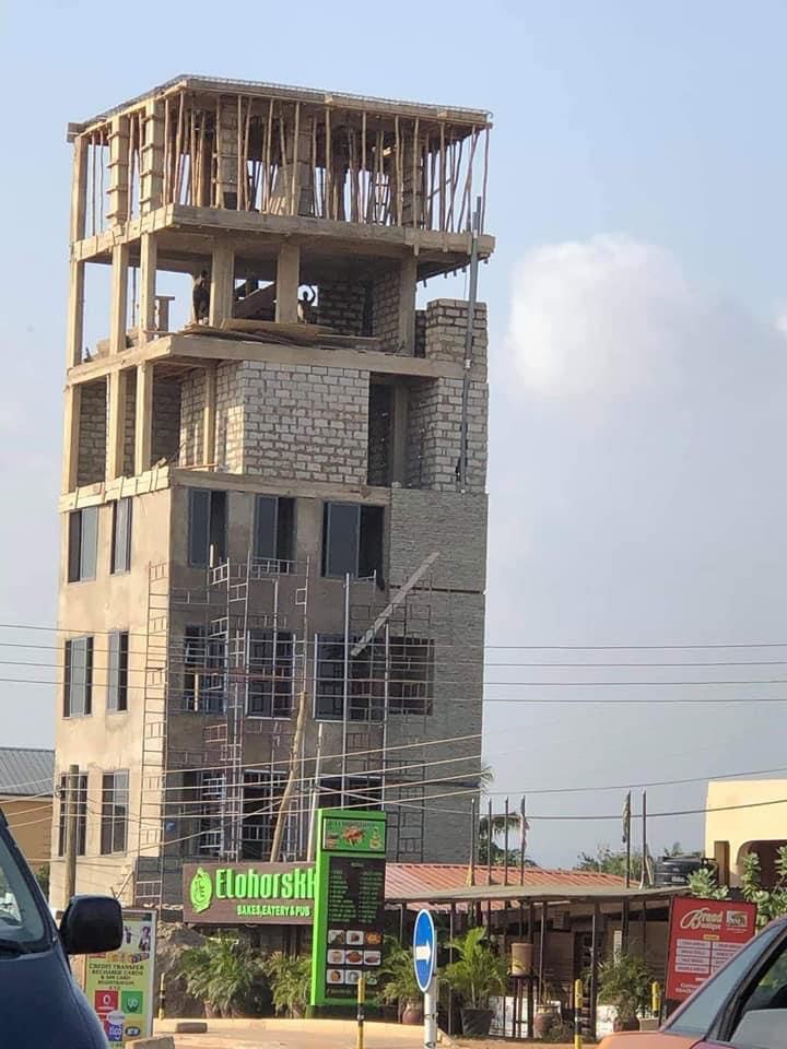
[[[713,811],[717,810],[717,811]],[[705,854],[720,867],[723,882],[737,886],[749,852],[760,857],[763,885],[776,884],[776,859],[787,845],[786,779],[717,779],[708,782]]]

